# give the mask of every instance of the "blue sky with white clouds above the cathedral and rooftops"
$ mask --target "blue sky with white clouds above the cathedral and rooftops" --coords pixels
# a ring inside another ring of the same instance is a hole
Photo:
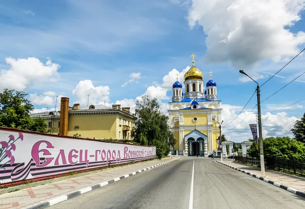
[[[26,92],[34,112],[59,110],[63,96],[85,107],[88,95],[89,105],[134,111],[146,94],[166,113],[194,53],[204,83],[210,71],[217,83],[225,137],[245,141],[256,83],[239,69],[261,85],[284,67],[305,47],[304,9],[305,0],[1,1],[0,90]],[[305,112],[304,53],[261,86],[264,138],[292,137]]]

